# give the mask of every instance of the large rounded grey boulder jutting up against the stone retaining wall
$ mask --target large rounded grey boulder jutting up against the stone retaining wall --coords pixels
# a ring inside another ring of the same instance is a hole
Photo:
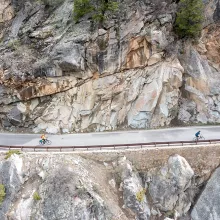
[[[183,157],[171,156],[168,164],[152,176],[149,194],[155,206],[161,211],[176,209],[180,215],[187,213],[191,207],[187,189],[193,176],[192,168]]]

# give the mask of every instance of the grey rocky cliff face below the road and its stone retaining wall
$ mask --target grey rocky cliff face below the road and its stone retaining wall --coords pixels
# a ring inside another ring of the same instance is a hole
[[[220,218],[219,168],[209,178],[207,169],[197,173],[177,154],[142,171],[125,157],[102,163],[77,154],[0,157],[2,220]]]

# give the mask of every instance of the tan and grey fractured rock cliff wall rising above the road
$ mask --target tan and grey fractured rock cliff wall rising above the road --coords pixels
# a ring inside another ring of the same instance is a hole
[[[121,0],[102,28],[73,0],[0,0],[3,129],[50,133],[219,123],[219,1],[197,43],[173,33],[176,1]],[[56,3],[56,4],[55,4]]]

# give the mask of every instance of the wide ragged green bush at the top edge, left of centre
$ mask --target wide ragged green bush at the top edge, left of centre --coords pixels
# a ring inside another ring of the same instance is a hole
[[[118,10],[118,2],[114,0],[75,0],[74,1],[74,20],[77,22],[81,17],[91,13],[92,19],[102,23],[108,13]]]

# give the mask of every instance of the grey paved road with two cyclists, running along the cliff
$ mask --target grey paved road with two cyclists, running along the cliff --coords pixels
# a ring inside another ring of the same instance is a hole
[[[187,141],[200,130],[206,139],[220,139],[220,126],[183,127],[158,130],[48,135],[52,146],[128,144],[156,141]],[[39,134],[0,134],[0,145],[38,146]]]

